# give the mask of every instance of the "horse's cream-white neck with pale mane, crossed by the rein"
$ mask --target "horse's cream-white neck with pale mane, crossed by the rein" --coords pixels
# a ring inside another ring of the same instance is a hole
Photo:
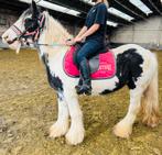
[[[63,25],[54,20],[52,16],[50,16],[47,13],[46,16],[46,23],[45,23],[45,30],[43,31],[40,43],[41,44],[60,44],[61,46],[41,46],[42,53],[47,53],[48,60],[57,57],[60,53],[65,53],[67,51],[67,46],[62,46],[64,40],[69,38],[71,35],[63,27]]]

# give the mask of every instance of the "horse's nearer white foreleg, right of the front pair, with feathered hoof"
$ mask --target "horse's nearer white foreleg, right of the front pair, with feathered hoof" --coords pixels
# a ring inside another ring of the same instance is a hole
[[[71,128],[66,134],[66,142],[71,145],[76,145],[84,140],[84,123],[83,123],[83,112],[78,104],[78,99],[75,90],[69,89],[65,91],[65,98],[68,104],[69,115],[71,115]]]

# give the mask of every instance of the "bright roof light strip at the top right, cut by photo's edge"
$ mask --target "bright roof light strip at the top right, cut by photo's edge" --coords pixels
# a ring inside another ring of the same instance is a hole
[[[144,12],[147,15],[150,13],[153,13],[141,0],[129,0],[133,5],[139,8],[142,12]]]

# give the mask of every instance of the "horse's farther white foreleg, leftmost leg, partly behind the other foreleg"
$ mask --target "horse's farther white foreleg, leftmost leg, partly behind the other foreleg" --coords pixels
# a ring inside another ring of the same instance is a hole
[[[51,137],[58,137],[68,131],[68,107],[64,100],[58,98],[58,118],[50,129]]]

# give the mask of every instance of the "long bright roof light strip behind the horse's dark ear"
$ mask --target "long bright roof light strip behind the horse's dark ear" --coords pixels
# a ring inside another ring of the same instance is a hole
[[[19,1],[25,2],[25,3],[31,3],[29,0],[19,0]],[[51,3],[51,2],[47,2],[47,1],[44,1],[44,0],[41,0],[37,3],[37,5],[41,5],[41,7],[51,9],[51,10],[55,10],[55,11],[58,11],[58,12],[63,12],[63,13],[66,13],[66,14],[71,14],[71,15],[74,15],[74,16],[78,16],[80,14],[79,11],[72,10],[72,9],[66,8],[66,7],[62,7],[62,5]]]

